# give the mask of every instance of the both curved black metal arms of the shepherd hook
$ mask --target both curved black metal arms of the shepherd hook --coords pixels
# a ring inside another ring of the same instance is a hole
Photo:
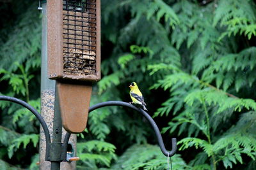
[[[45,160],[56,163],[56,160],[55,161],[51,160],[51,157],[50,157],[51,144],[52,143],[51,143],[49,129],[47,127],[47,124],[44,121],[44,118],[42,118],[42,116],[38,113],[38,111],[36,111],[35,108],[30,106],[28,103],[26,103],[26,102],[24,102],[20,99],[17,99],[15,97],[0,96],[0,101],[11,101],[13,103],[20,104],[21,106],[24,106],[25,108],[27,108],[29,111],[31,111],[35,115],[35,117],[39,120],[40,124],[42,125],[42,128],[44,129],[45,140],[46,140]],[[170,150],[170,151],[166,150],[166,148],[164,146],[164,143],[163,143],[163,138],[161,136],[159,128],[156,125],[156,122],[154,122],[153,118],[150,117],[150,115],[148,115],[147,112],[145,112],[144,110],[141,110],[139,108],[136,108],[132,104],[125,103],[125,102],[122,102],[122,101],[107,101],[107,102],[103,102],[103,103],[99,103],[99,104],[95,104],[94,106],[91,106],[90,109],[89,109],[89,112],[91,112],[93,110],[97,110],[97,109],[102,108],[102,107],[106,107],[106,106],[124,106],[124,107],[131,108],[132,110],[136,110],[139,113],[141,113],[141,115],[143,115],[145,118],[147,118],[151,127],[154,129],[159,147],[161,148],[161,151],[163,152],[163,154],[166,157],[172,157],[176,153],[176,151],[177,151],[177,139],[172,138],[172,150]],[[58,161],[59,163],[63,162],[63,161],[67,161],[67,146],[68,146],[68,140],[70,138],[70,135],[71,134],[69,132],[67,132],[65,134],[65,138],[64,138],[64,141],[63,141],[63,145],[61,146],[61,152],[60,152],[60,154],[62,156],[60,156],[60,160]],[[54,153],[52,153],[52,154],[54,154]]]

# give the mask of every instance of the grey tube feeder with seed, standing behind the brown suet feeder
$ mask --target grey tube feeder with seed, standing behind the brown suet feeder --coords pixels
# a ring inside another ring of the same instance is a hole
[[[54,125],[54,99],[55,99],[55,85],[56,81],[50,80],[47,75],[47,5],[46,1],[41,1],[42,5],[42,66],[41,66],[41,115],[44,118],[51,135],[52,140],[56,141],[56,129],[58,129],[58,141],[63,143],[66,131],[62,129],[61,122]],[[59,112],[60,113],[60,112]],[[57,120],[61,121],[56,117]],[[62,132],[62,133],[61,133]],[[61,137],[60,137],[61,134]],[[70,143],[74,146],[76,151],[76,135],[72,134],[70,136]],[[40,127],[40,169],[49,170],[51,169],[51,162],[45,161],[45,135],[42,127]],[[51,152],[56,152],[52,150]],[[58,153],[56,153],[58,154]],[[76,169],[76,161],[73,162],[61,162],[61,165],[52,164],[54,169]]]

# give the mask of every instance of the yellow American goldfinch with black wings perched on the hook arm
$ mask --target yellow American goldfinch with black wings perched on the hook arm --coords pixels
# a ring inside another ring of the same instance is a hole
[[[130,96],[132,99],[132,103],[140,104],[143,107],[143,110],[147,110],[147,104],[144,102],[144,97],[142,96],[138,85],[135,82],[132,82],[129,87],[131,89]]]

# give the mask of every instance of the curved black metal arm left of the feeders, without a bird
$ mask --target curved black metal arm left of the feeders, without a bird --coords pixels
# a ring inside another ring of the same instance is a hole
[[[29,111],[31,111],[35,115],[35,117],[39,120],[39,122],[42,125],[43,130],[44,130],[45,140],[46,140],[46,148],[47,148],[46,152],[45,152],[45,159],[48,160],[48,157],[49,157],[49,149],[48,148],[50,148],[51,138],[50,138],[49,129],[44,121],[44,118],[38,113],[38,111],[35,110],[35,108],[30,106],[28,103],[26,103],[20,99],[17,99],[15,97],[0,96],[0,101],[11,101],[13,103],[20,104],[21,106],[24,106],[24,108],[27,108]]]

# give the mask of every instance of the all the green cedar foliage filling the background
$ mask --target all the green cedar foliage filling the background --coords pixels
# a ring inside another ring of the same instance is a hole
[[[40,110],[41,25],[31,2],[0,6],[13,10],[1,18],[0,92]],[[253,169],[255,2],[204,2],[102,0],[102,80],[91,104],[130,101],[136,81],[166,143],[178,138],[173,169]],[[1,167],[36,168],[38,122],[15,104],[0,108]],[[147,122],[115,106],[90,113],[77,154],[77,169],[167,168]]]

